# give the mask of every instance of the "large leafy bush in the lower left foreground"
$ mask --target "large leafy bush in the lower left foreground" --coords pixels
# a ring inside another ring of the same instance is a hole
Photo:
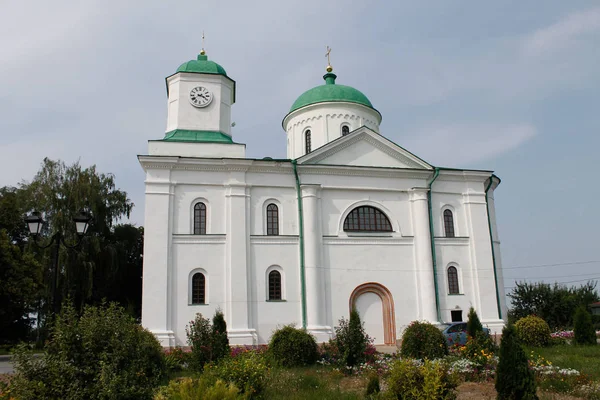
[[[11,383],[21,399],[145,399],[165,374],[162,348],[116,304],[63,305],[43,357],[15,352]]]

